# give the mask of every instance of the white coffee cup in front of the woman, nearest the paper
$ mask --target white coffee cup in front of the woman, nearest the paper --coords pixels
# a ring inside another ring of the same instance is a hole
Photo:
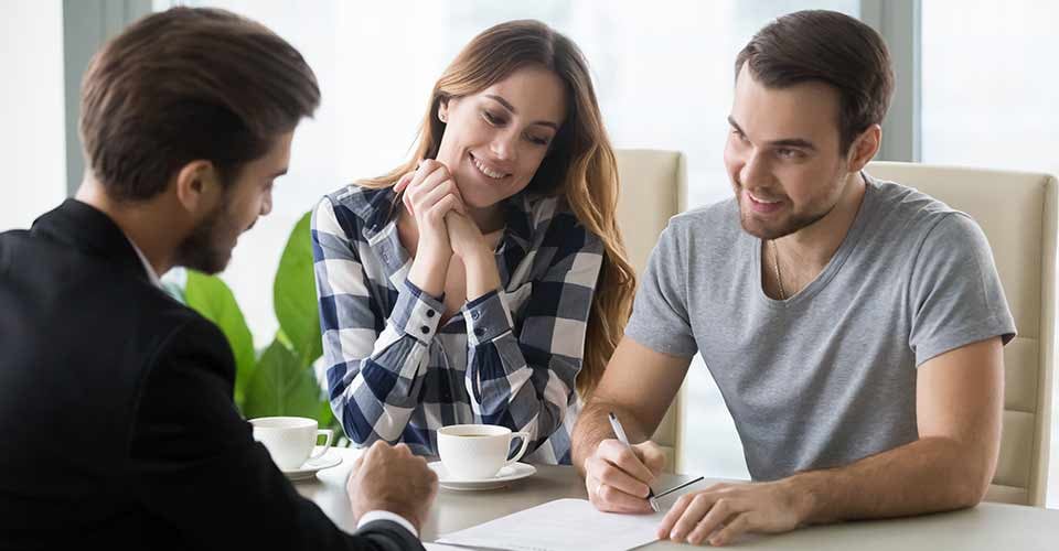
[[[522,439],[522,447],[509,458],[512,439]],[[511,432],[495,424],[452,424],[438,429],[438,455],[453,479],[492,478],[506,465],[522,458],[530,445],[528,432]]]

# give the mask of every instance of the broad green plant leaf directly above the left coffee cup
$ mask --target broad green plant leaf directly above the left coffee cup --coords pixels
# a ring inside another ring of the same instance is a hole
[[[320,420],[320,387],[312,369],[279,341],[261,354],[246,388],[247,419],[297,415]]]

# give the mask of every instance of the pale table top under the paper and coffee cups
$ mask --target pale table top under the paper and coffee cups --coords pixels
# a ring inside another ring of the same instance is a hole
[[[296,482],[298,491],[312,499],[347,531],[356,528],[345,491],[345,480],[360,453],[335,449],[342,464]],[[470,528],[553,499],[585,499],[585,486],[571,467],[536,465],[537,473],[510,487],[486,491],[454,491],[441,488],[422,529],[424,541],[439,534]],[[709,485],[706,480],[699,485]],[[751,536],[737,542],[738,549],[783,550],[1059,550],[1059,510],[1005,504],[981,504],[973,509],[922,517],[845,522],[804,528],[780,536]],[[644,549],[685,548],[660,541]]]

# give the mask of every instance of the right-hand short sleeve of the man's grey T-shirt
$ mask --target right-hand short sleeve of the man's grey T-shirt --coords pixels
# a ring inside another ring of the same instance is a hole
[[[908,300],[917,366],[978,341],[1001,336],[1007,344],[1015,337],[990,244],[963,213],[945,215],[923,239]]]

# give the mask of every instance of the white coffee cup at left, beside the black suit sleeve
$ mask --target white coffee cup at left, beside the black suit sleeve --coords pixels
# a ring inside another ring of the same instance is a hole
[[[292,471],[304,465],[308,460],[322,456],[331,447],[334,431],[319,430],[317,420],[306,417],[261,417],[250,419],[254,425],[254,440],[265,444],[281,471]],[[328,437],[323,446],[312,453],[320,435]]]

